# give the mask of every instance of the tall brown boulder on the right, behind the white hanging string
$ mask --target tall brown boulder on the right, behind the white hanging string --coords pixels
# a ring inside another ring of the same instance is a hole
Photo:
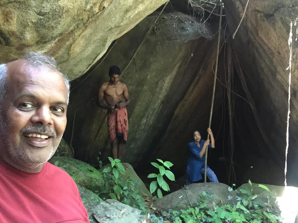
[[[232,36],[240,23],[247,0],[223,2]],[[271,164],[266,163],[267,168],[275,169],[276,166],[282,170],[274,170],[271,183],[280,185],[284,182],[289,87],[289,70],[286,69],[290,58],[288,39],[291,21],[292,93],[287,178],[289,185],[298,185],[298,42],[295,40],[297,25],[294,22],[297,15],[296,0],[250,0],[244,19],[235,39],[232,40],[243,70],[241,76],[239,70],[237,71],[243,80],[244,91],[241,94],[246,94],[246,98],[254,107],[251,110],[250,105],[242,99],[235,102],[236,111],[241,111],[235,112],[235,123],[242,140],[242,148],[236,153],[242,157],[244,169],[257,166],[257,162],[263,162],[264,158],[271,159]],[[270,174],[270,171],[259,171],[255,171],[254,181],[263,183],[263,175]],[[244,179],[249,177],[251,176],[243,176]]]

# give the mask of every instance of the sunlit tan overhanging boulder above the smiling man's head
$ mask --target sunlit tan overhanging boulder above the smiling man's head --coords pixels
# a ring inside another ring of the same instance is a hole
[[[166,1],[4,1],[0,7],[0,62],[37,51],[54,56],[63,73],[75,79],[113,40]]]

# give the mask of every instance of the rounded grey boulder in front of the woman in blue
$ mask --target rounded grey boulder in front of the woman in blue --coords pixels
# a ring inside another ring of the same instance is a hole
[[[229,186],[224,183],[193,183],[186,189],[180,189],[157,199],[154,205],[160,210],[186,210],[189,206],[195,206],[201,202],[204,193],[208,197],[206,203],[209,208],[217,204],[236,204],[236,193],[229,192],[228,188]],[[229,196],[232,196],[231,200],[228,200]]]

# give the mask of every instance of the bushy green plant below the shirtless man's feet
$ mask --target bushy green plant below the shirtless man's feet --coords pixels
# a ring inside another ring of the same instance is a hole
[[[144,204],[144,199],[139,195],[136,186],[140,184],[137,180],[126,179],[123,181],[119,173],[125,175],[125,169],[119,159],[108,157],[111,167],[103,170],[105,181],[104,190],[100,191],[100,197],[103,200],[108,198],[118,200],[131,207],[138,208],[142,211],[148,211],[148,207]],[[111,174],[109,174],[111,172]]]

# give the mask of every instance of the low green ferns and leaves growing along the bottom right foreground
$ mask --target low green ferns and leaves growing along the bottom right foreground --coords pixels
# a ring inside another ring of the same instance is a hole
[[[260,187],[267,191],[270,191],[265,185],[259,184],[253,186],[249,180],[250,189],[235,190],[237,193],[236,204],[223,205],[219,203],[214,208],[207,206],[206,200],[210,195],[203,192],[201,202],[195,205],[196,207],[188,207],[187,210],[173,211],[171,222],[174,223],[192,223],[192,222],[246,222],[246,223],[277,223],[281,222],[280,212],[274,202],[274,199],[268,199],[267,202],[263,202],[258,198],[257,194],[254,194],[254,187]],[[233,186],[236,186],[233,184]],[[228,189],[230,192],[232,187]],[[229,198],[228,198],[229,200]],[[230,199],[231,200],[231,199]]]

